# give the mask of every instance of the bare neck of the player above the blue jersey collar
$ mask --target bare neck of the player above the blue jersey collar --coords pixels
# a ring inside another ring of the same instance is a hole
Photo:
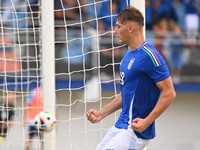
[[[130,51],[135,51],[137,50],[143,43],[145,42],[145,38],[143,33],[136,33],[132,36],[130,40]]]

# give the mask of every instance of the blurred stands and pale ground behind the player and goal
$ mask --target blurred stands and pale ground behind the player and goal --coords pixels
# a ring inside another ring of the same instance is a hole
[[[127,46],[118,43],[112,31],[116,15],[129,4],[129,0],[54,0],[59,150],[69,145],[86,149],[87,141],[79,145],[82,148],[73,141],[85,136],[93,141],[90,148],[94,149],[117,119],[119,112],[91,125],[85,113],[102,108],[120,90],[119,65]],[[177,92],[172,106],[157,120],[157,138],[149,150],[200,149],[199,19],[199,0],[145,1],[146,40],[165,58]],[[1,0],[0,29],[1,101],[6,101],[8,90],[16,94],[14,126],[0,149],[14,149],[16,143],[22,149],[28,132],[22,121],[24,103],[42,77],[41,1]],[[76,121],[84,124],[84,130],[79,130]]]

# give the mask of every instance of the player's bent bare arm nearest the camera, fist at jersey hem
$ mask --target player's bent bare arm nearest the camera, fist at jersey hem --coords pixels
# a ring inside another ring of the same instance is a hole
[[[157,82],[156,85],[161,90],[161,95],[156,106],[145,119],[135,118],[132,121],[131,128],[136,132],[141,133],[152,124],[169,107],[176,96],[171,77]]]

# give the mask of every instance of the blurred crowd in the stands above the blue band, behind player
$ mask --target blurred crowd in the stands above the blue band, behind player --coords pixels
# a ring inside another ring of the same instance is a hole
[[[83,74],[75,71],[95,65],[101,66],[102,76],[106,74],[105,78],[112,77],[113,67],[118,72],[118,63],[127,47],[120,45],[111,31],[116,15],[129,5],[129,1],[54,1],[56,78],[69,78],[59,73],[74,71],[72,78],[81,80]],[[146,39],[165,58],[175,84],[200,82],[199,3],[198,0],[145,1]],[[30,68],[27,69],[29,73],[34,73],[41,57],[40,1],[2,0],[0,4],[0,55],[3,57],[5,51],[5,57],[16,58],[14,62],[8,60],[6,68],[2,62],[0,70]],[[94,38],[97,34],[98,41]],[[99,62],[93,63],[95,49],[98,49],[100,58]],[[19,59],[21,62],[17,61]],[[85,72],[86,79],[93,75],[90,71]]]

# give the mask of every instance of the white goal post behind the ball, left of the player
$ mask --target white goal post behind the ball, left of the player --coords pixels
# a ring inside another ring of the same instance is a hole
[[[41,1],[42,14],[42,91],[44,111],[55,114],[55,32],[54,0]],[[44,134],[44,150],[55,150],[55,129]]]

